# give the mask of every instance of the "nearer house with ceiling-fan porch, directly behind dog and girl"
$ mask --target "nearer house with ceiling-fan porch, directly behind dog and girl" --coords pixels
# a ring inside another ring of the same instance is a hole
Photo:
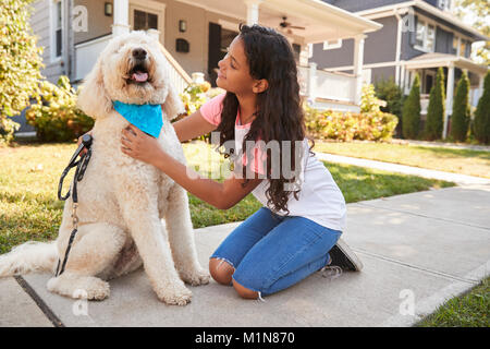
[[[320,0],[37,0],[33,5],[32,27],[45,47],[42,74],[53,83],[65,74],[79,84],[112,36],[145,29],[166,47],[180,91],[193,73],[215,84],[218,61],[238,24],[259,23],[278,28],[292,44],[302,95],[317,107],[341,110],[359,108],[364,37],[382,26]],[[354,72],[317,71],[310,44],[338,39],[355,41]]]

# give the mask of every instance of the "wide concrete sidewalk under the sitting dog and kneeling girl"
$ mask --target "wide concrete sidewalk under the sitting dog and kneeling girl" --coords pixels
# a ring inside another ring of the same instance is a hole
[[[101,302],[51,294],[48,274],[24,276],[24,287],[65,326],[409,326],[490,274],[489,213],[490,184],[347,204],[342,238],[365,268],[335,279],[316,273],[266,302],[211,281],[191,287],[188,305],[169,306],[143,270],[111,281],[111,297]],[[196,229],[204,266],[237,225]],[[40,308],[13,278],[0,280],[0,325],[52,326]]]

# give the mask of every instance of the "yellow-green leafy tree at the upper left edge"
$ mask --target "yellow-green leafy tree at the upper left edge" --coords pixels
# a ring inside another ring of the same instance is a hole
[[[41,52],[28,19],[33,0],[1,0],[0,7],[0,142],[9,143],[16,116],[38,94]]]

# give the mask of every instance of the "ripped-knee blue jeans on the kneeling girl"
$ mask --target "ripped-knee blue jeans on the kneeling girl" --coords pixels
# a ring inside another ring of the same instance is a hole
[[[268,296],[323,267],[342,231],[301,216],[281,217],[261,207],[236,227],[210,258],[235,268],[233,279]]]

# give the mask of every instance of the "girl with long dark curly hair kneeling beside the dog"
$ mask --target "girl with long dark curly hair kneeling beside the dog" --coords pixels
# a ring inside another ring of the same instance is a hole
[[[216,83],[226,93],[173,127],[181,142],[219,132],[219,146],[225,147],[225,157],[233,155],[242,173],[234,170],[223,183],[189,176],[156,139],[133,125],[123,131],[122,152],[154,165],[217,208],[228,209],[250,192],[260,201],[264,207],[233,230],[209,260],[212,278],[233,285],[243,298],[261,299],[319,269],[360,269],[355,254],[339,240],[346,215],[342,192],[309,153],[296,63],[286,38],[267,27],[241,25],[218,65]],[[246,141],[262,142],[250,152]],[[269,144],[291,147],[279,146],[279,153],[268,155],[264,144],[270,153],[278,147]],[[283,156],[292,159],[293,177],[273,166]]]

